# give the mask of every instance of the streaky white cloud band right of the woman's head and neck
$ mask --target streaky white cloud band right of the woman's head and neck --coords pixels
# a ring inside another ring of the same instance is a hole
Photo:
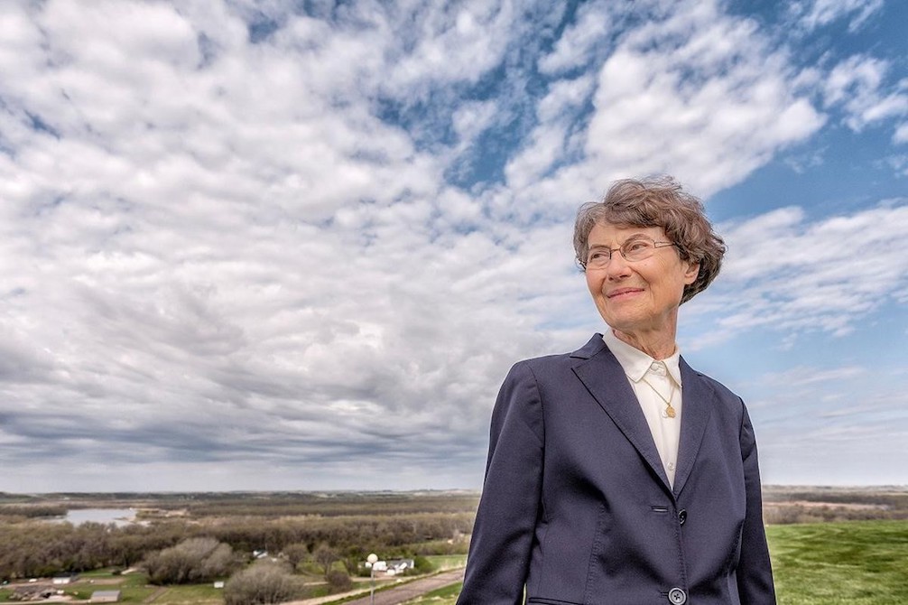
[[[722,274],[690,303],[692,321],[705,322],[695,348],[755,330],[842,336],[908,287],[904,203],[816,222],[789,207],[719,233],[729,247]]]

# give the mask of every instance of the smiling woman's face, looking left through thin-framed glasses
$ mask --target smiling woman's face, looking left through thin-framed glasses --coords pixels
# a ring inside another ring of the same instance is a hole
[[[612,328],[636,336],[664,333],[672,339],[684,287],[694,283],[700,266],[682,261],[675,246],[656,248],[649,258],[630,263],[616,248],[644,235],[668,242],[661,227],[618,227],[597,223],[589,232],[590,251],[614,250],[602,269],[587,268],[587,287],[602,318]]]

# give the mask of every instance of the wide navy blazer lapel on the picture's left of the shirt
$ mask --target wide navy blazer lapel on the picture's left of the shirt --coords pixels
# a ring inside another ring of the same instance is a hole
[[[596,334],[589,342],[576,352],[571,353],[582,361],[574,366],[577,378],[587,387],[587,391],[615,422],[618,430],[624,433],[627,441],[639,452],[650,469],[671,491],[662,460],[656,450],[656,442],[646,424],[646,418],[640,410],[637,396],[627,382],[627,376],[615,355],[608,350],[601,334]],[[686,379],[682,379],[686,380]],[[685,382],[686,385],[686,382]],[[686,387],[685,387],[686,388]],[[685,396],[685,406],[687,398]],[[686,407],[685,411],[686,413]],[[682,429],[682,437],[684,431]]]

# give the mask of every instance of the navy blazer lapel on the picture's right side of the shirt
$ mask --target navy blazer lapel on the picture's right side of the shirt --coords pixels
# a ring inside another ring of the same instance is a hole
[[[681,369],[681,439],[678,443],[678,467],[675,472],[675,493],[681,493],[687,478],[694,469],[696,454],[700,451],[706,424],[713,413],[713,390],[703,377],[691,369],[684,358]]]

